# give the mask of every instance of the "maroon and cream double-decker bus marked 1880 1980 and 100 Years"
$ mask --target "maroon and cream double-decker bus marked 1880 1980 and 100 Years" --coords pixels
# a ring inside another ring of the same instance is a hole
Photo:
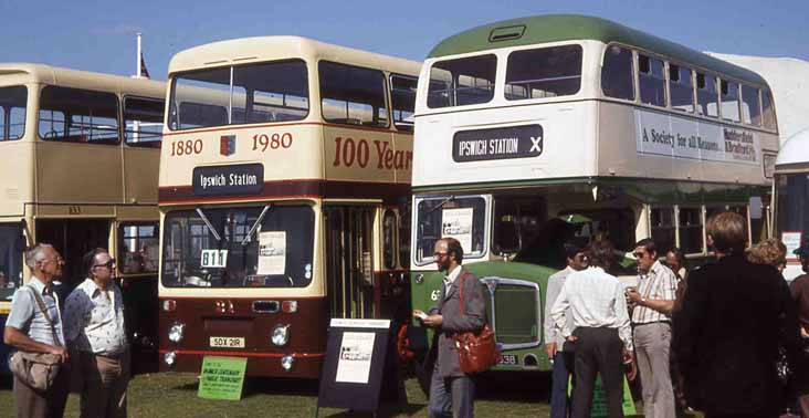
[[[219,355],[248,358],[248,375],[317,378],[329,317],[407,317],[419,69],[297,36],[172,58],[161,369]]]

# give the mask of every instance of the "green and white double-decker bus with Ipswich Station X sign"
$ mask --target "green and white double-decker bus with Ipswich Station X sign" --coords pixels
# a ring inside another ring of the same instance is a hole
[[[539,15],[443,40],[414,121],[412,306],[435,304],[433,244],[456,238],[486,288],[495,369],[549,369],[545,292],[567,240],[609,239],[626,255],[652,237],[695,263],[715,211],[745,216],[753,242],[769,233],[766,81],[603,19]],[[634,275],[619,260],[616,273]],[[429,332],[413,321],[410,335],[422,354]]]

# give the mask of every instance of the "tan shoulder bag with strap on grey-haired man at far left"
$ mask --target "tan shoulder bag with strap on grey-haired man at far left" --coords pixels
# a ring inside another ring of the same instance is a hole
[[[56,335],[51,316],[48,315],[45,302],[42,301],[42,297],[33,288],[28,286],[28,289],[33,293],[40,311],[51,325],[53,341],[59,345],[59,336]],[[17,352],[9,359],[9,368],[20,382],[32,389],[43,393],[53,386],[53,382],[56,379],[61,367],[62,356],[50,353]]]

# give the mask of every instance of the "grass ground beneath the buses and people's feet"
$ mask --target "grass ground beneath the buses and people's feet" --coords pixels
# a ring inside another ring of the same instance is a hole
[[[547,417],[547,375],[505,377],[482,382],[475,401],[476,417]],[[500,380],[500,379],[498,379]],[[537,382],[539,380],[539,382]],[[507,388],[511,389],[507,389]],[[407,405],[386,407],[381,416],[427,417],[427,398],[416,379],[406,382]],[[140,375],[129,383],[129,417],[314,417],[317,382],[249,379],[241,401],[197,397],[195,374]],[[13,415],[11,384],[0,384],[0,416]],[[323,409],[321,417],[370,417],[370,414]],[[78,396],[71,395],[65,417],[78,417]]]

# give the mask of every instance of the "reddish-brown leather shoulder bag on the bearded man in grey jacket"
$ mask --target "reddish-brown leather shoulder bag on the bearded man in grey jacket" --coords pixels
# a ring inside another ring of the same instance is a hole
[[[464,315],[463,286],[466,279],[465,275],[460,285],[462,316]],[[467,331],[454,335],[452,338],[455,341],[461,372],[465,374],[486,372],[500,360],[501,353],[494,341],[494,333],[488,324],[484,324],[483,328],[477,333]]]

